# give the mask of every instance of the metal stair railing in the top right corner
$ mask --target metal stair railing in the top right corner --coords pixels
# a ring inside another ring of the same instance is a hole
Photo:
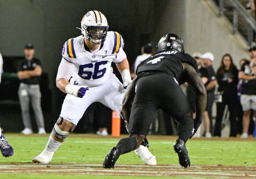
[[[241,17],[245,21],[247,21],[247,24],[248,24],[247,41],[248,41],[248,44],[251,44],[253,41],[253,30],[254,32],[256,32],[255,19],[238,0],[219,0],[219,16],[224,15],[225,1],[229,1],[229,4],[231,4],[232,10],[233,10],[232,33],[235,34],[236,32],[238,32],[238,20],[239,20],[238,15],[240,14]]]

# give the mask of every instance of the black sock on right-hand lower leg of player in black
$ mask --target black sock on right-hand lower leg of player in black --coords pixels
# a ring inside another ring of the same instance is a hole
[[[194,120],[192,117],[184,117],[183,119],[181,119],[177,127],[179,139],[183,140],[184,143],[186,143],[189,136],[191,135],[193,127]]]

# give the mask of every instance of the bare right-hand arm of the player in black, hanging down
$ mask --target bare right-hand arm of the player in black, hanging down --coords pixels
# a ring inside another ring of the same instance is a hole
[[[206,88],[202,82],[200,76],[197,75],[195,68],[187,63],[183,63],[184,72],[188,84],[195,90],[196,99],[196,117],[194,128],[197,130],[202,123],[203,113],[206,109],[207,93]]]

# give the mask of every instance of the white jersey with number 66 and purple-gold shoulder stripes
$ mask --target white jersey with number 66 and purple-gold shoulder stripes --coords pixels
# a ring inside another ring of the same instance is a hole
[[[112,77],[111,62],[119,63],[126,58],[123,38],[118,32],[109,31],[100,50],[91,53],[86,49],[84,37],[78,36],[65,42],[63,58],[75,65],[73,78],[79,85],[101,86]]]

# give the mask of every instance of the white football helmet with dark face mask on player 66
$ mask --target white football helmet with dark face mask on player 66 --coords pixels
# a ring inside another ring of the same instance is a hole
[[[81,30],[85,39],[101,44],[106,40],[108,21],[100,11],[89,11],[83,16]]]

